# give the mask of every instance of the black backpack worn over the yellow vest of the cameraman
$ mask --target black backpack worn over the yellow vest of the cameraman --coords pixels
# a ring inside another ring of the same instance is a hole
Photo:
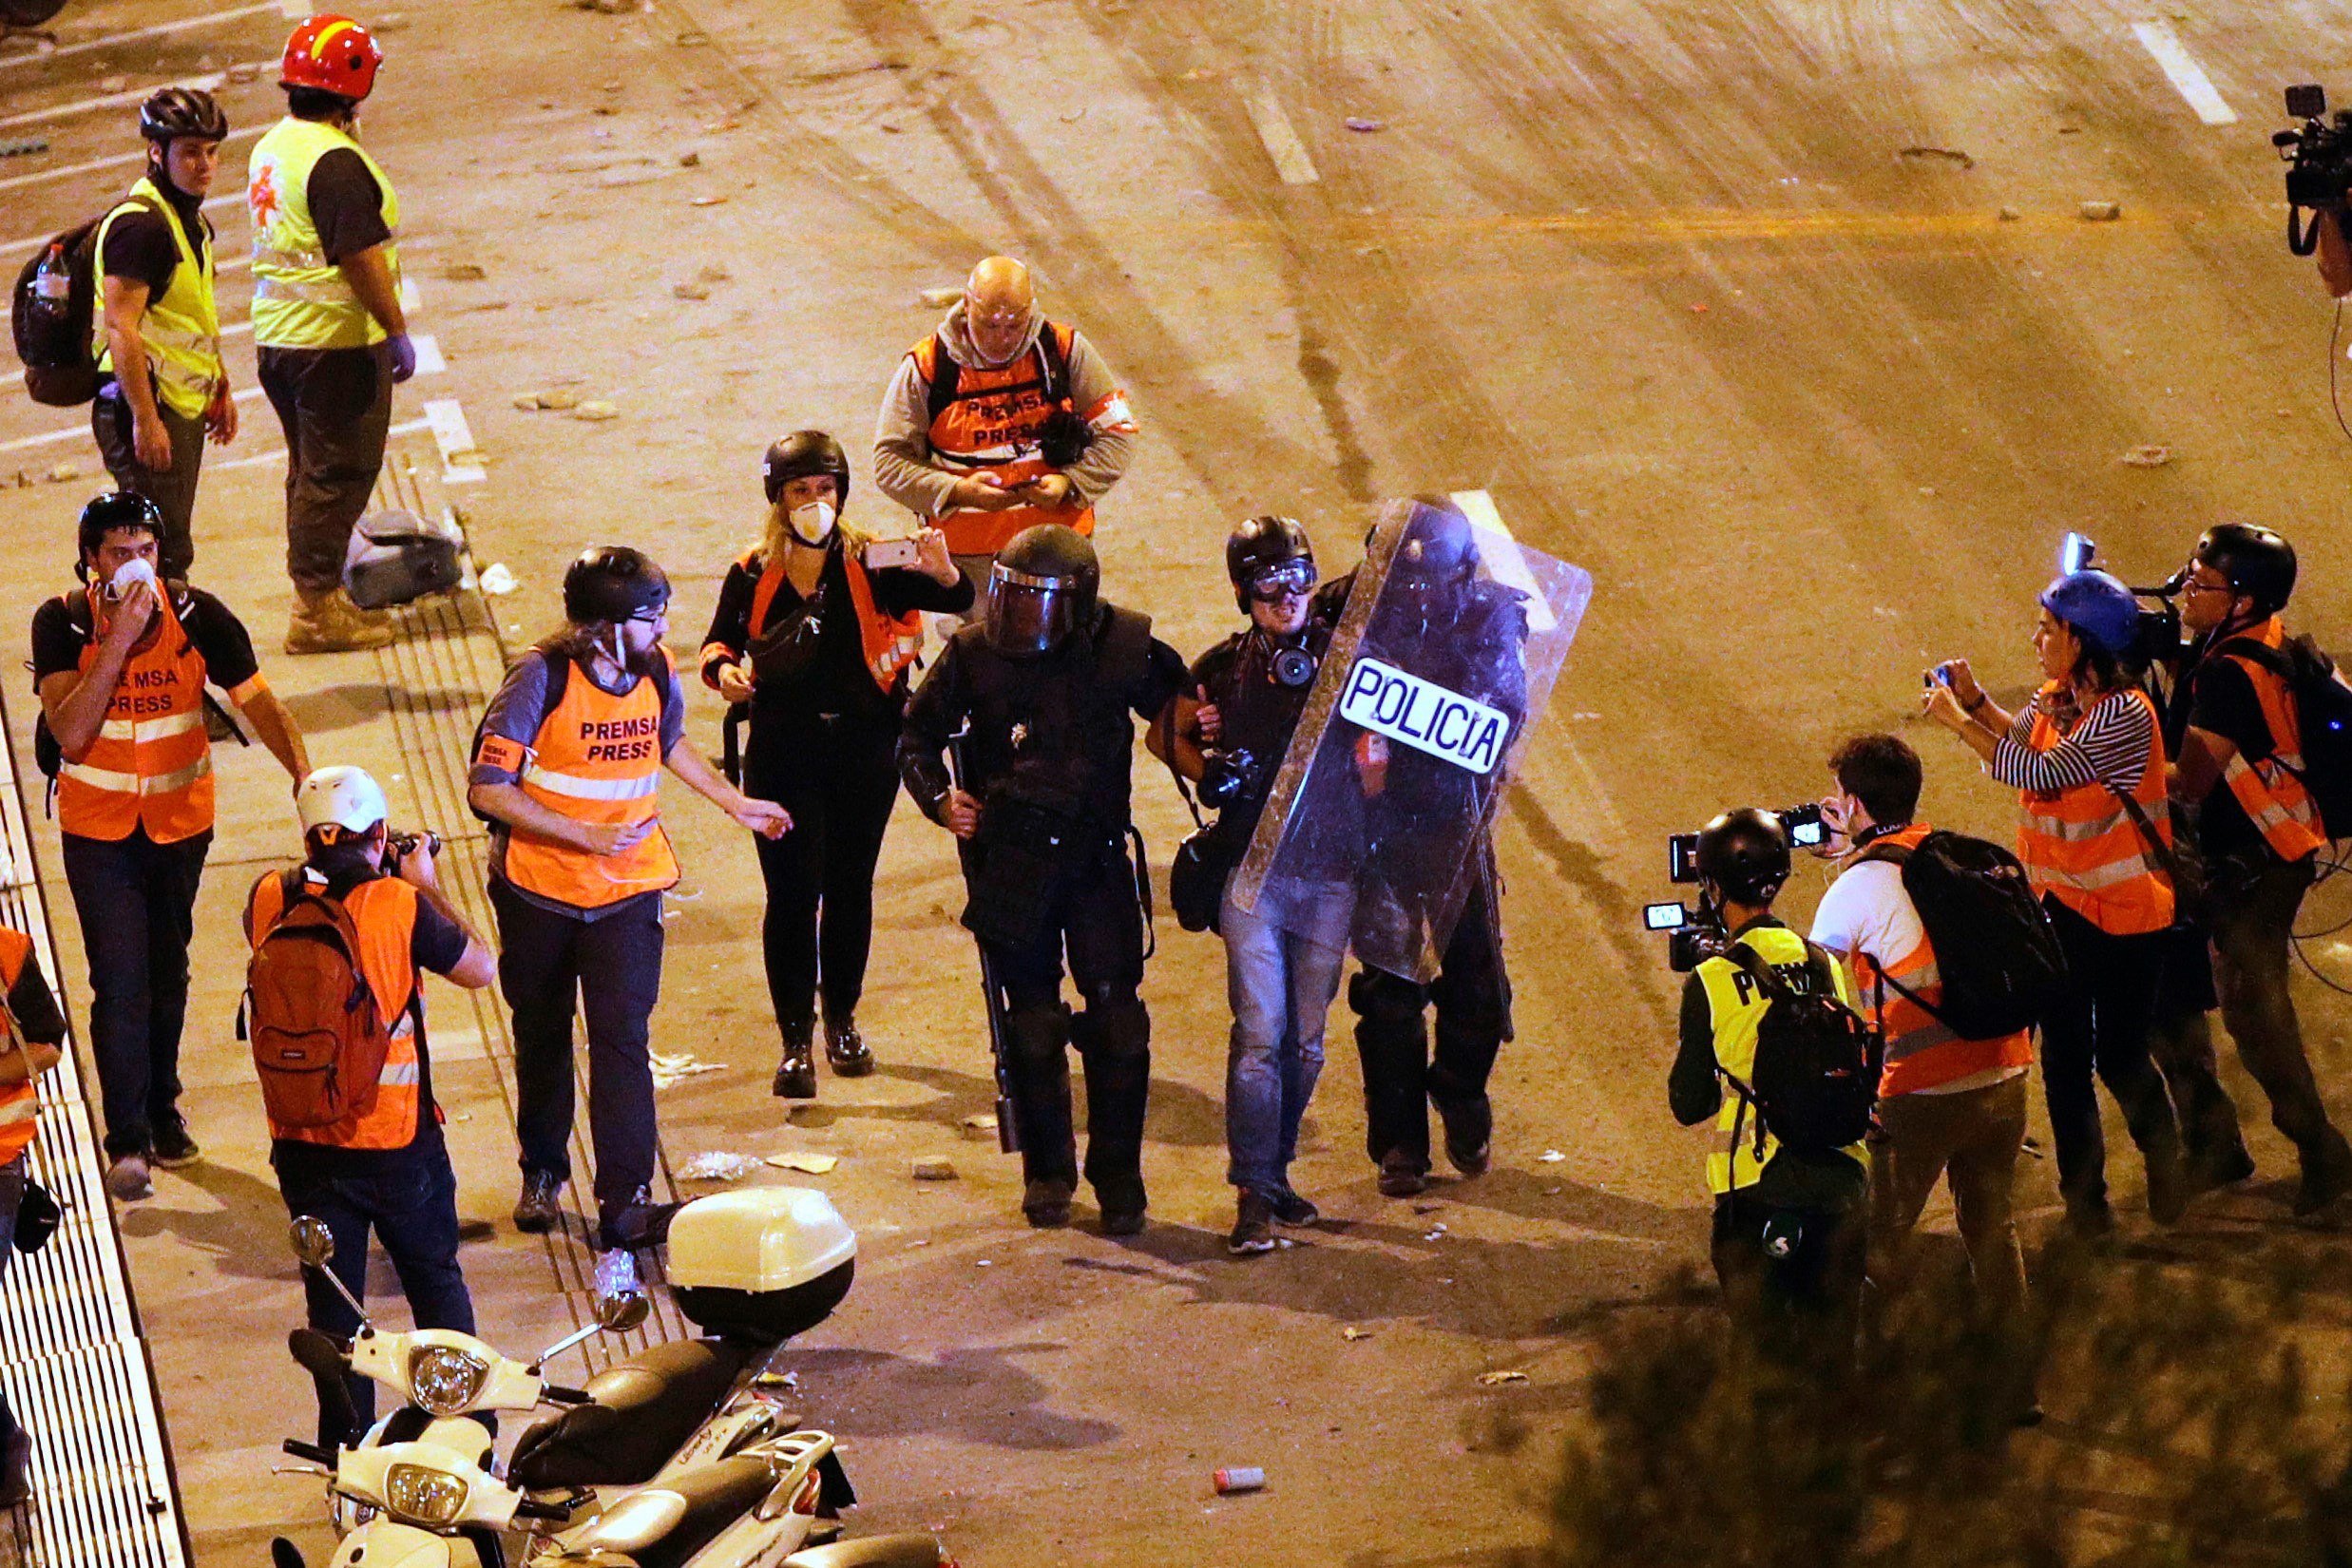
[[[1731,1088],[1757,1112],[1757,1147],[1762,1150],[1764,1133],[1771,1133],[1783,1150],[1818,1159],[1860,1143],[1879,1103],[1879,1065],[1886,1051],[1879,1032],[1837,999],[1830,957],[1811,943],[1804,945],[1811,990],[1790,985],[1748,943],[1733,943],[1726,957],[1769,999],[1757,1020],[1750,1081],[1740,1084],[1724,1072]]]

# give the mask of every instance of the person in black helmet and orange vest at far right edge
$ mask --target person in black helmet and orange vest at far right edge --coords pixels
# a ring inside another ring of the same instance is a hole
[[[2352,1150],[2328,1121],[2286,985],[2296,910],[2328,846],[2326,823],[2303,785],[2300,715],[2284,675],[2291,665],[2279,611],[2293,592],[2291,543],[2244,522],[2206,529],[2180,581],[2180,623],[2194,642],[2173,684],[2166,736],[2180,755],[2173,799],[2201,806],[2201,914],[2213,938],[2220,1016],[2246,1072],[2270,1095],[2270,1119],[2296,1145],[2303,1161],[2296,1213],[2310,1215],[2352,1190]],[[2201,1016],[2194,1032],[2211,1063]],[[2237,1133],[2234,1107],[2227,1131]],[[2209,1180],[2253,1175],[2244,1143],[2234,1154],[2241,1164],[2211,1171]]]

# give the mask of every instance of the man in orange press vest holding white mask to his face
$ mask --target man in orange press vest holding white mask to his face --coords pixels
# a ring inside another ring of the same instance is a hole
[[[179,1110],[188,938],[212,849],[205,686],[219,686],[289,778],[310,771],[245,625],[202,588],[155,576],[165,522],[125,491],[82,508],[85,585],[33,611],[33,684],[56,738],[56,830],[89,957],[89,1037],[106,1110],[106,1190],[198,1159]]]

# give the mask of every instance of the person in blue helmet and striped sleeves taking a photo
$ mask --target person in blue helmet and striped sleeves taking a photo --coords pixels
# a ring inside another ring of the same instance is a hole
[[[2187,1206],[2180,1126],[2147,1056],[2173,924],[2173,827],[2157,705],[2124,672],[2138,628],[2129,588],[2105,571],[2070,571],[2042,590],[2044,684],[2020,712],[2004,712],[1964,658],[1936,665],[1922,696],[1926,717],[2018,790],[2018,860],[2070,969],[2065,999],[2042,1020],[2042,1086],[2058,1192],[2084,1237],[2114,1227],[2093,1070],[2147,1161],[2147,1213],[2171,1225]]]

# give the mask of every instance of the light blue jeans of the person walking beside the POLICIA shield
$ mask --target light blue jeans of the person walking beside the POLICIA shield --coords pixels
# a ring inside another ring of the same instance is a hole
[[[1298,1154],[1298,1119],[1322,1077],[1324,1018],[1348,964],[1355,889],[1345,882],[1270,886],[1256,910],[1218,910],[1225,938],[1225,999],[1232,1046],[1225,1056],[1225,1180],[1282,1192]]]

